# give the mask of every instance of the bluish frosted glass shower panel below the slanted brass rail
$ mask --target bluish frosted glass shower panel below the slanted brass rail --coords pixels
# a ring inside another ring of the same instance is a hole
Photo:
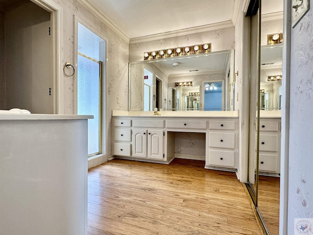
[[[93,115],[94,119],[88,119],[88,155],[97,154],[100,151],[99,63],[78,55],[77,70],[77,114]]]

